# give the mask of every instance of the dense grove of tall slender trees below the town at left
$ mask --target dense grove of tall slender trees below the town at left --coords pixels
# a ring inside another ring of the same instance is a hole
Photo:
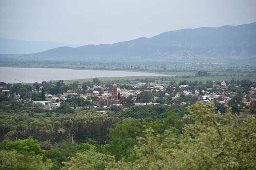
[[[106,143],[107,129],[117,122],[117,119],[94,110],[80,111],[74,114],[57,114],[53,112],[35,113],[1,112],[1,141],[10,139],[26,139],[33,136],[39,141],[49,140],[59,143],[75,134],[77,142],[86,142],[91,138],[99,143]]]

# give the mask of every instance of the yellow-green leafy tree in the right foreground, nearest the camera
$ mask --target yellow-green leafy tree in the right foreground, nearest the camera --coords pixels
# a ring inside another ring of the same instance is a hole
[[[182,143],[177,150],[177,169],[253,169],[256,166],[256,119],[246,119],[230,110],[218,115],[213,103],[198,102],[190,107],[190,115],[184,116],[195,123],[185,125],[184,134],[194,139]],[[254,123],[254,124],[253,124]],[[252,147],[253,146],[253,147]],[[193,158],[193,161],[192,161]],[[190,160],[189,160],[190,159]],[[181,164],[181,161],[184,164]]]

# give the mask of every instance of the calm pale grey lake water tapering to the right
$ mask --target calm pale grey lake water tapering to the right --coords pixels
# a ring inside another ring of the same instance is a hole
[[[61,68],[0,67],[0,82],[34,83],[49,80],[75,80],[95,77],[160,76],[163,74],[130,71],[72,70]]]

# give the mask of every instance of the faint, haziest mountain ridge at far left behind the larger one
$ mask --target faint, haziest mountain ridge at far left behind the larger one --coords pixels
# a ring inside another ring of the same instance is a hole
[[[29,54],[62,46],[78,47],[78,45],[50,41],[23,41],[0,37],[0,54]]]

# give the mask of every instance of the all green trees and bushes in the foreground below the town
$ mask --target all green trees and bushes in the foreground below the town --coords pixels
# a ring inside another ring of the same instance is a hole
[[[0,169],[255,168],[255,116],[230,110],[218,114],[211,102],[198,102],[188,112],[159,109],[136,118],[92,111],[59,116],[2,113],[1,133],[9,132],[0,145]],[[103,143],[88,133],[76,134],[93,132],[101,138],[107,127]],[[75,133],[73,142],[70,133]],[[18,134],[34,139],[10,141]]]

